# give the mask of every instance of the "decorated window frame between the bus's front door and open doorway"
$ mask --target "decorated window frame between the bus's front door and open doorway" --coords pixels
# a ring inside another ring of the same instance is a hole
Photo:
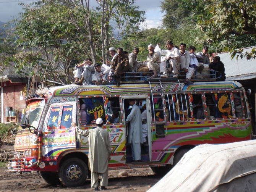
[[[78,96],[78,99],[77,99],[77,103],[78,103],[78,121],[79,122],[79,125],[80,127],[88,127],[88,129],[90,127],[95,127],[96,124],[89,124],[89,125],[82,125],[81,124],[81,110],[80,110],[80,98],[96,98],[96,97],[102,97],[103,98],[103,101],[104,101],[104,98],[107,98],[107,97],[118,97],[119,98],[119,106],[120,106],[120,111],[121,111],[121,117],[122,118],[122,123],[107,123],[107,113],[105,113],[105,119],[106,119],[106,123],[103,124],[102,127],[104,126],[109,126],[109,125],[124,125],[125,123],[124,120],[123,120],[123,105],[122,105],[122,98],[121,98],[121,95],[92,95],[92,96]]]

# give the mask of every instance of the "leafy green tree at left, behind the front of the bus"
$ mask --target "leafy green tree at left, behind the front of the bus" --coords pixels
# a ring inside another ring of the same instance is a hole
[[[59,8],[37,3],[23,6],[21,20],[16,24],[16,44],[36,50],[18,53],[15,56],[17,73],[34,75],[34,67],[42,79],[70,83],[69,68],[73,60],[84,52],[84,38],[79,38],[75,26],[61,16],[65,13]],[[34,52],[34,53],[33,53]]]

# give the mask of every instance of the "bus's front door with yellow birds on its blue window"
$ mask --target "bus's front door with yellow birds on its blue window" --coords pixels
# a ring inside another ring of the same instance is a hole
[[[63,150],[76,148],[76,102],[53,103],[45,117],[43,127],[43,160],[56,161]],[[50,164],[51,165],[51,164]]]

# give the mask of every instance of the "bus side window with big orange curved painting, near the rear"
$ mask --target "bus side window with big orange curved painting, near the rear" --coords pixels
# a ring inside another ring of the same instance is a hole
[[[233,118],[232,107],[231,107],[231,100],[230,100],[230,93],[213,93],[213,94],[205,94],[206,96],[206,105],[212,106],[209,103],[209,98],[214,101],[216,115],[215,118]],[[211,112],[210,112],[211,114]]]

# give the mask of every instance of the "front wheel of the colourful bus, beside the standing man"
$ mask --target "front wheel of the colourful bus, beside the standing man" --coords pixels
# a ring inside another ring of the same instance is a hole
[[[79,158],[65,160],[58,172],[60,181],[68,187],[81,186],[87,179],[88,169],[84,161]]]

